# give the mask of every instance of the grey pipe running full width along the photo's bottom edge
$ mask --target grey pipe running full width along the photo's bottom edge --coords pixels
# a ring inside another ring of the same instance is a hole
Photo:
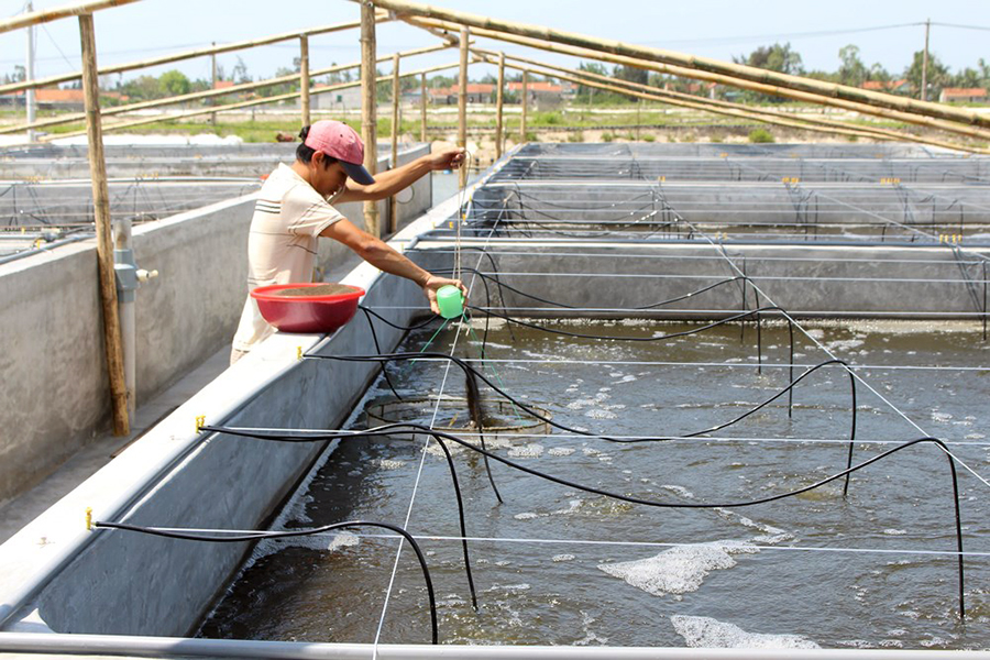
[[[990,659],[990,651],[934,651],[886,649],[711,649],[669,647],[568,647],[371,645],[244,639],[190,639],[127,635],[59,635],[0,632],[0,651],[128,654],[160,658],[205,656],[212,658],[276,658],[367,660],[975,660]]]

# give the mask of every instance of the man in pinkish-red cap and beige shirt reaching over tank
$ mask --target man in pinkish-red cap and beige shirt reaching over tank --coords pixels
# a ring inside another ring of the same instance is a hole
[[[362,231],[340,215],[332,204],[385,199],[437,169],[455,169],[464,151],[448,150],[394,167],[373,178],[364,168],[364,144],[353,129],[322,120],[299,133],[302,144],[296,161],[279,164],[258,193],[248,238],[248,286],[312,282],[314,260],[320,237],[340,241],[364,261],[422,287],[430,309],[439,312],[437,289],[451,284],[466,295],[459,279],[438,277]],[[243,358],[274,328],[248,297],[234,334],[230,363]]]

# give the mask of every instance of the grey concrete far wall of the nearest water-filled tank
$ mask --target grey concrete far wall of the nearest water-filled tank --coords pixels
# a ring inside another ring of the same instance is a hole
[[[464,246],[481,246],[472,239]],[[524,292],[582,309],[634,308],[683,296],[738,275],[719,250],[701,242],[651,245],[596,241],[491,240],[488,254],[502,282]],[[450,242],[424,240],[426,267],[450,258]],[[865,318],[976,318],[982,311],[982,265],[957,261],[948,246],[821,245],[733,243],[725,254],[778,305],[795,316]],[[983,254],[990,255],[990,250]],[[481,268],[493,273],[490,262]],[[473,266],[475,261],[470,264]],[[553,275],[553,276],[548,276]],[[495,285],[491,285],[493,296]],[[722,318],[744,310],[744,287],[736,282],[666,308],[618,312],[625,317]],[[516,315],[613,317],[616,312],[569,312],[503,290]],[[472,298],[483,305],[481,287]],[[767,302],[761,299],[760,306]],[[752,287],[745,309],[754,309]],[[534,309],[537,308],[537,309]],[[542,308],[542,310],[540,310]]]

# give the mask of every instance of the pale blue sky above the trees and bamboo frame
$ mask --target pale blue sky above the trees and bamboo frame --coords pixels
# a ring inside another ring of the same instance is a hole
[[[59,7],[68,0],[35,0],[35,9]],[[739,2],[705,1],[674,3],[651,0],[429,0],[430,4],[513,21],[550,25],[606,38],[664,47],[695,55],[729,59],[763,44],[790,42],[807,68],[833,70],[838,66],[838,50],[856,44],[869,66],[879,62],[900,73],[911,53],[924,44],[924,28],[899,26],[854,32],[932,19],[937,23],[990,29],[990,2],[942,0],[921,2],[879,0],[876,2],[832,0],[831,2]],[[0,0],[0,15],[19,13],[23,0]],[[758,8],[758,9],[755,9]],[[131,62],[175,51],[261,37],[278,32],[355,20],[358,6],[346,0],[143,0],[135,4],[101,11],[96,30],[101,65]],[[838,34],[837,34],[838,33]],[[0,73],[11,73],[25,54],[23,30],[0,34]],[[38,76],[65,73],[79,66],[78,23],[64,19],[37,32]],[[405,24],[378,28],[378,52],[418,47],[435,43],[426,33]],[[492,42],[482,45],[498,47]],[[990,30],[933,26],[931,50],[953,70],[975,66],[977,59],[990,61]],[[506,52],[526,54],[536,59],[574,65],[563,56],[540,54],[512,46]],[[340,32],[314,37],[312,68],[331,63],[355,62],[360,57],[358,32]],[[289,66],[297,54],[295,45],[282,44],[239,53],[254,78],[271,76],[279,66]],[[230,72],[238,54],[219,57]],[[422,56],[409,62],[410,68],[454,62],[453,52]],[[405,66],[405,65],[404,65]],[[153,75],[165,68],[179,68],[193,78],[208,78],[208,58],[148,69]],[[382,66],[387,70],[387,65]],[[472,67],[471,76],[486,69]]]

